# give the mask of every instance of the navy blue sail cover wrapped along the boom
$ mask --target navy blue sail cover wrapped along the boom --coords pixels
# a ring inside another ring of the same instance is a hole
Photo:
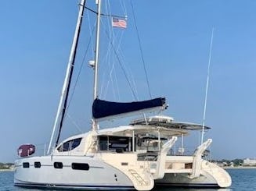
[[[96,99],[92,104],[92,116],[96,119],[106,118],[113,115],[121,115],[133,111],[142,111],[159,107],[166,108],[164,97],[159,97],[148,101],[134,101],[128,103]]]

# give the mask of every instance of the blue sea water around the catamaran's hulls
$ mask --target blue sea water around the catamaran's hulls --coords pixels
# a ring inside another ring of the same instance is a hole
[[[233,183],[229,189],[178,189],[157,188],[154,191],[256,191],[256,168],[253,169],[227,169]],[[40,189],[23,189],[13,186],[13,172],[0,172],[0,191],[39,191]],[[45,190],[45,189],[44,189]],[[49,189],[48,189],[49,190]]]

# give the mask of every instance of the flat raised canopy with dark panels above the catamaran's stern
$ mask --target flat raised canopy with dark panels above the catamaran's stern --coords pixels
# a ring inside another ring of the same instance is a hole
[[[200,130],[203,126],[192,122],[174,122],[173,118],[168,116],[152,116],[146,118],[135,119],[130,123],[132,126],[161,126],[168,129],[185,129],[185,130]],[[211,129],[204,126],[204,129]]]

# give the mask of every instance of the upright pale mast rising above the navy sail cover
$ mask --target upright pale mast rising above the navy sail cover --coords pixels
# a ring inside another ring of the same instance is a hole
[[[98,97],[98,64],[99,64],[99,30],[100,30],[100,14],[101,14],[101,0],[96,0],[98,5],[97,11],[97,26],[96,26],[96,51],[95,51],[95,65],[94,65],[94,87],[93,100]],[[92,119],[92,130],[98,129],[98,123]]]

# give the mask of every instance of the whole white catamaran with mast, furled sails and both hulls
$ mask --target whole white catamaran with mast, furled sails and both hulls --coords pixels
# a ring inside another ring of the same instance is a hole
[[[92,129],[87,133],[70,136],[59,143],[85,9],[85,0],[81,0],[48,154],[34,156],[35,148],[30,144],[19,147],[20,157],[15,161],[14,184],[33,188],[108,190],[150,190],[155,184],[171,185],[172,182],[176,185],[195,182],[197,185],[230,186],[230,176],[222,168],[202,159],[202,154],[211,140],[197,147],[193,156],[168,154],[177,137],[188,134],[188,129],[177,128],[182,124],[172,122],[170,118],[155,116],[153,120],[145,117],[128,126],[99,129],[99,121],[106,118],[132,112],[144,114],[148,111],[163,111],[168,105],[164,97],[130,103],[99,99],[101,0],[96,3],[96,54],[94,61],[89,63],[94,71]],[[189,126],[192,125],[186,124],[187,128]]]

